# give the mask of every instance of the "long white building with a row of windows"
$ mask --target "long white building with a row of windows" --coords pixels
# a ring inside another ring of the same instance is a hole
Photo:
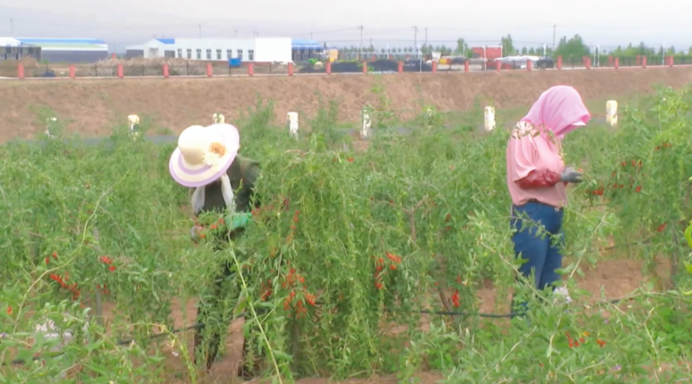
[[[291,38],[152,39],[138,46],[128,46],[127,57],[179,57],[206,61],[240,59],[261,63],[287,63],[291,61]]]

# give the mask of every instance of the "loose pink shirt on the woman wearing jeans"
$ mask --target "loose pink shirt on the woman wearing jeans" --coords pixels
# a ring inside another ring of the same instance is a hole
[[[551,145],[548,141],[552,140]],[[555,186],[521,189],[518,180],[527,177],[531,171],[547,169],[556,173],[565,170],[562,146],[554,138],[544,138],[529,122],[519,122],[512,131],[507,144],[507,186],[512,203],[523,205],[531,199],[553,207],[565,207],[567,191],[565,184]]]

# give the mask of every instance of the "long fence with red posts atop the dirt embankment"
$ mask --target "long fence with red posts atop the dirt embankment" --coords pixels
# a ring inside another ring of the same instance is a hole
[[[64,64],[50,66],[42,64],[34,68],[17,64],[16,75],[10,78],[124,78],[124,77],[230,77],[255,75],[304,75],[332,73],[468,73],[490,70],[561,70],[591,68],[626,68],[647,66],[684,66],[692,64],[692,57],[684,56],[637,56],[637,57],[582,57],[580,59],[557,57],[517,61],[484,61],[484,59],[457,58],[440,64],[436,61],[427,64],[419,59],[399,59],[400,55],[373,54],[369,61],[334,61],[324,64],[311,63],[244,63],[230,67],[226,62],[190,61],[186,64]],[[399,59],[399,60],[396,60]],[[499,67],[499,68],[498,68]]]

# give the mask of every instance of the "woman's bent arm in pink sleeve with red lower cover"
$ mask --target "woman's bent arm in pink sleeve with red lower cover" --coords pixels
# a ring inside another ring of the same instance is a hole
[[[555,186],[560,173],[538,166],[538,150],[531,135],[512,135],[507,146],[507,171],[521,189]]]

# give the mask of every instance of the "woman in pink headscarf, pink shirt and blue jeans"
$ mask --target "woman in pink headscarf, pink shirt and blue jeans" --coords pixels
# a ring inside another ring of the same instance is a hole
[[[507,144],[507,186],[512,198],[511,225],[514,252],[525,259],[519,271],[534,273],[540,290],[560,280],[563,207],[567,183],[581,182],[582,174],[565,167],[562,140],[585,126],[591,116],[571,86],[554,86],[538,97],[529,113],[512,131]],[[533,223],[533,224],[531,224]],[[540,228],[540,229],[539,229]],[[547,235],[547,236],[545,236]],[[526,309],[526,304],[515,309]]]

